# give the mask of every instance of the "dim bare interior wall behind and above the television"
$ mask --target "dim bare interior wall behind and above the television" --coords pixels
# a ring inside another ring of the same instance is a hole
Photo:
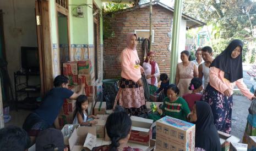
[[[21,68],[20,47],[37,47],[35,0],[1,0],[9,77]]]

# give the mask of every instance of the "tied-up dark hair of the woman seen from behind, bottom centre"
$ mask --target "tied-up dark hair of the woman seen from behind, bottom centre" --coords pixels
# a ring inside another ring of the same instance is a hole
[[[126,138],[132,127],[132,120],[130,120],[127,112],[121,108],[116,107],[116,111],[111,113],[106,121],[107,135],[110,137],[110,150],[116,151],[120,146],[119,140]]]

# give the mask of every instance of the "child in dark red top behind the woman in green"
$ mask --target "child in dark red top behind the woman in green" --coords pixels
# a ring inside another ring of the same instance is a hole
[[[184,100],[187,101],[188,107],[190,111],[193,110],[193,106],[195,104],[195,101],[200,101],[201,97],[203,96],[200,94],[201,90],[203,90],[203,82],[200,78],[193,78],[189,84],[188,89],[191,91],[191,94],[185,94],[182,97]]]

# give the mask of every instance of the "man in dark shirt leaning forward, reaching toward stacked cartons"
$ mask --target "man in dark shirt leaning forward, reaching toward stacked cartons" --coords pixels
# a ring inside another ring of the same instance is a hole
[[[64,75],[58,75],[53,84],[55,88],[47,92],[40,107],[29,114],[23,124],[23,129],[28,132],[32,144],[40,131],[53,126],[64,100],[66,98],[76,99],[85,87],[84,84],[81,85],[77,93],[69,90],[68,78]]]

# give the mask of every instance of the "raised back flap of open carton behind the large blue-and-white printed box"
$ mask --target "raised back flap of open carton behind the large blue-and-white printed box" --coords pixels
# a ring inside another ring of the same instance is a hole
[[[135,117],[135,116],[130,117],[130,119],[132,120],[132,126],[144,127],[146,129],[150,129],[150,127],[154,121],[151,119],[144,119],[144,118]]]

